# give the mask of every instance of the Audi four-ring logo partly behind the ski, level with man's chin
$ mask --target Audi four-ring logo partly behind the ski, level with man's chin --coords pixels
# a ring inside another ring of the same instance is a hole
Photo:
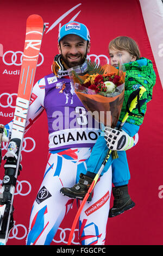
[[[37,66],[42,65],[43,63],[43,54],[40,52],[39,55],[41,56],[41,62],[37,64]],[[3,62],[5,65],[15,65],[15,66],[21,66],[22,65],[22,58],[23,58],[23,52],[21,51],[7,51],[3,54]]]

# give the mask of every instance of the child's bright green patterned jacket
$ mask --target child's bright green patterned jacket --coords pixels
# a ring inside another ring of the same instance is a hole
[[[124,115],[127,112],[126,106],[130,94],[140,86],[144,86],[146,88],[146,92],[143,93],[140,99],[141,113],[146,113],[147,102],[152,100],[153,86],[156,81],[153,64],[149,59],[142,57],[135,62],[126,63],[124,66],[126,68],[125,91],[123,106],[119,118],[120,121],[122,121]],[[135,115],[140,115],[137,108],[135,108],[132,113]],[[133,115],[130,115],[127,119],[127,122],[130,124],[141,125],[143,123],[143,117],[134,117]]]

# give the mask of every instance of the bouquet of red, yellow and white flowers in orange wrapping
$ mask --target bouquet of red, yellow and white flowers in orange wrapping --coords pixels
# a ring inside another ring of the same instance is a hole
[[[120,64],[116,69],[91,60],[85,63],[84,68],[81,65],[68,69],[74,92],[95,120],[114,128],[123,104],[126,73]]]

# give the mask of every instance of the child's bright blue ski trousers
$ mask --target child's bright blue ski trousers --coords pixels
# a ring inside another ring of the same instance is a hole
[[[120,121],[117,123],[117,127],[120,125]],[[125,123],[123,125],[123,130],[128,133],[129,136],[133,137],[138,131],[140,126]],[[104,132],[98,137],[96,144],[92,148],[90,158],[87,162],[87,172],[97,173],[101,167],[105,156],[108,152],[108,147],[106,146],[106,141],[104,139]],[[126,151],[118,151],[118,158],[112,159],[110,155],[108,162],[105,164],[101,176],[112,167],[112,183],[114,186],[126,185],[130,179],[129,166],[127,161]]]

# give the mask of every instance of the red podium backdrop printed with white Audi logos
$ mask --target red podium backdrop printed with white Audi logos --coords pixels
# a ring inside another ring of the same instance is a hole
[[[154,2],[154,7],[153,7]],[[121,216],[108,219],[106,245],[162,245],[163,228],[163,93],[161,63],[163,44],[162,1],[153,0],[72,0],[72,1],[2,1],[0,10],[0,123],[7,124],[14,115],[21,58],[26,33],[26,20],[31,14],[42,16],[46,24],[37,65],[35,82],[51,73],[51,65],[58,53],[57,38],[60,26],[70,20],[83,22],[91,36],[92,60],[106,58],[109,63],[109,41],[127,35],[139,44],[141,56],[151,59],[156,72],[153,100],[139,132],[139,143],[127,151],[131,179],[129,193],[135,208]],[[152,31],[153,29],[153,31]],[[35,83],[34,82],[34,83]],[[7,143],[2,145],[6,153]],[[8,245],[25,245],[30,211],[43,179],[47,163],[48,129],[43,113],[24,136],[21,175],[18,176],[14,220]],[[4,161],[0,169],[0,185],[4,175]],[[111,198],[111,206],[112,206]],[[57,210],[57,209],[56,209]],[[68,213],[55,235],[52,245],[66,245],[76,206]],[[78,230],[72,245],[78,245]]]

